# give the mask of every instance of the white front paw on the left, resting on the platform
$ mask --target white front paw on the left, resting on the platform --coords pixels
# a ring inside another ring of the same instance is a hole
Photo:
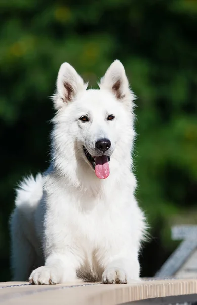
[[[58,284],[60,277],[57,273],[57,269],[55,268],[39,267],[31,273],[29,283],[37,285]]]

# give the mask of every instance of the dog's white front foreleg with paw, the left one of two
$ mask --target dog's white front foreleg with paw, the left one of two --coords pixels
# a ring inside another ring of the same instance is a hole
[[[76,269],[80,263],[72,253],[53,253],[46,259],[45,265],[35,269],[30,277],[31,284],[60,284],[75,281]]]

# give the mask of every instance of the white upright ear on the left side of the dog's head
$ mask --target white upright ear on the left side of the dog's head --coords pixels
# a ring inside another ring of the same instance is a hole
[[[76,70],[68,63],[63,63],[59,69],[56,94],[53,96],[55,109],[60,109],[72,102],[78,92],[86,90],[87,84]]]

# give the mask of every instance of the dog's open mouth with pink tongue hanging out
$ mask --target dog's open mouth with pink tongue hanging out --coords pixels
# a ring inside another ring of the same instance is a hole
[[[91,156],[88,153],[88,150],[83,146],[84,154],[93,169],[95,170],[95,174],[99,179],[106,179],[109,176],[109,161],[110,156],[102,155],[102,156]]]

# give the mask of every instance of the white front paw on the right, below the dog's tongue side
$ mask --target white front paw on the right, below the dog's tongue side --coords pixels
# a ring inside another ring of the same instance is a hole
[[[127,284],[125,271],[120,268],[108,268],[102,275],[103,284]]]

